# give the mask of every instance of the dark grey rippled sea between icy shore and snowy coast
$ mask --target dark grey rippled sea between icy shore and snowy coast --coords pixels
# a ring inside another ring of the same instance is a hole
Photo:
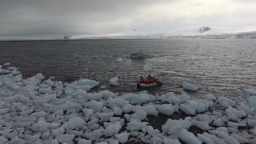
[[[152,57],[132,59],[131,53],[139,50]],[[116,57],[127,60],[116,62]],[[88,78],[100,81],[100,86],[106,85],[106,89],[121,93],[142,90],[153,94],[178,92],[182,90],[183,81],[204,87],[197,92],[188,91],[194,96],[215,92],[229,95],[235,90],[256,88],[255,39],[0,43],[0,65],[6,62],[19,67],[24,78],[42,73],[45,77],[55,76],[54,81],[70,83],[79,79],[82,72],[88,72],[87,76],[91,75]],[[140,74],[158,74],[163,86],[138,89],[138,71]],[[118,73],[122,74],[120,85],[109,86],[108,79]],[[92,91],[103,90],[100,86]]]

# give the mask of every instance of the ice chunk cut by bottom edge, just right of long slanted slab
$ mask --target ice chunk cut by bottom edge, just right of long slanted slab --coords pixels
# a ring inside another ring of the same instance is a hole
[[[197,134],[197,138],[204,143],[215,143],[215,144],[223,144],[224,143],[224,139],[220,139],[220,138],[216,137],[215,135],[211,135],[207,132],[204,132],[203,134]]]

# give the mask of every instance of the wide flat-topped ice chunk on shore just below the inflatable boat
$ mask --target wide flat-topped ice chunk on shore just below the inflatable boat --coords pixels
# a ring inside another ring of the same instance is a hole
[[[124,100],[128,100],[131,104],[143,104],[150,100],[149,94],[125,94],[120,96]]]

